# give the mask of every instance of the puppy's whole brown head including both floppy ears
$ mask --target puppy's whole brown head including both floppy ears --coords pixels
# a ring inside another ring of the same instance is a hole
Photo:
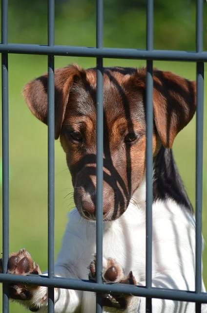
[[[171,148],[195,112],[195,83],[154,70],[153,156]],[[24,96],[47,123],[47,75],[28,83]],[[145,175],[145,68],[104,69],[104,220],[119,218]],[[96,70],[78,66],[55,72],[55,138],[60,136],[80,214],[95,219]]]

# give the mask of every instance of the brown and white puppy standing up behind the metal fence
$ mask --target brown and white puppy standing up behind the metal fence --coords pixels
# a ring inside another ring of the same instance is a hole
[[[145,68],[104,68],[103,282],[145,286]],[[55,275],[96,277],[96,69],[55,70],[55,139],[60,137],[76,208]],[[47,74],[23,89],[31,112],[47,124]],[[195,291],[195,220],[172,144],[196,110],[196,84],[153,70],[152,286]],[[41,274],[30,254],[12,253],[8,273]],[[205,291],[202,282],[202,291]],[[94,313],[95,293],[55,289],[56,313]],[[47,312],[47,288],[11,285],[10,297]],[[104,294],[104,312],[144,313],[145,298]],[[192,313],[195,304],[152,299],[153,313]],[[202,312],[207,312],[202,305]]]

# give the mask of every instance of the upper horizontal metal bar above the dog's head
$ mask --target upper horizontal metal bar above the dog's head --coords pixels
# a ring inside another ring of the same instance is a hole
[[[95,48],[64,45],[22,45],[0,44],[0,52],[20,54],[65,55],[82,57],[103,57],[113,59],[137,60],[168,60],[168,61],[203,61],[207,62],[207,51],[178,51],[178,50],[138,50],[121,48]]]

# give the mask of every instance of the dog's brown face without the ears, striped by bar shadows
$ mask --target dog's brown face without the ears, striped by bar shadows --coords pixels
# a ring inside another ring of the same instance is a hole
[[[119,71],[104,74],[104,219],[119,217],[145,172],[145,110],[142,92]],[[70,89],[61,143],[72,175],[80,213],[95,218],[96,71]],[[156,139],[155,139],[156,141]],[[156,142],[155,142],[156,146]]]

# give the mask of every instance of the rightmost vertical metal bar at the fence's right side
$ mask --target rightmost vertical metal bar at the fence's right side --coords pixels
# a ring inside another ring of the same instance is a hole
[[[196,52],[203,51],[203,0],[196,2]],[[202,197],[203,197],[203,127],[204,127],[204,63],[196,66],[196,259],[195,291],[202,286]],[[201,303],[196,302],[196,313]]]

